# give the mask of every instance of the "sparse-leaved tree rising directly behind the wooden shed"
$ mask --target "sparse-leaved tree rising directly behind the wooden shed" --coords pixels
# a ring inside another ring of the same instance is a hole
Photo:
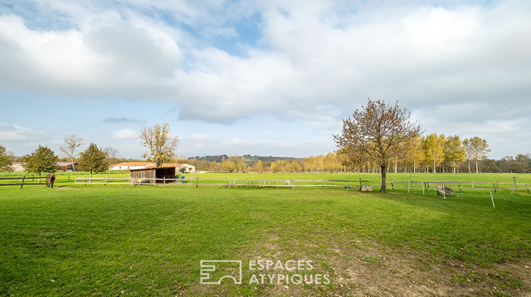
[[[155,163],[156,167],[172,160],[179,141],[176,136],[171,135],[167,123],[155,124],[153,127],[142,129],[140,139],[142,139],[142,145],[149,150],[144,153],[143,158]]]

